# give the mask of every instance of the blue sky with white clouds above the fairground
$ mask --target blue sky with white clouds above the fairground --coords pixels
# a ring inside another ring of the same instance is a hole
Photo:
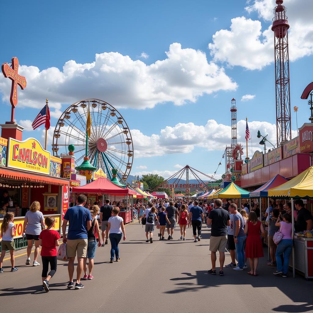
[[[32,5],[17,1],[14,16],[19,23],[0,21],[5,38],[0,60],[10,62],[17,56],[23,65],[20,73],[28,80],[27,88],[18,90],[15,113],[16,121],[25,126],[23,138],[42,140],[43,128],[27,129],[46,97],[54,112],[52,126],[66,105],[83,98],[100,98],[118,107],[131,129],[135,151],[132,174],[156,172],[169,176],[177,170],[177,164],[189,164],[212,174],[225,144],[230,144],[229,109],[234,97],[237,119],[242,120],[238,135],[243,146],[246,116],[255,149],[259,148],[258,129],[262,134],[269,133],[275,142],[274,48],[273,33],[268,29],[274,2],[89,1],[87,6],[85,1],[37,1]],[[310,114],[307,101],[300,95],[311,81],[308,64],[312,62],[313,46],[309,27],[313,24],[309,14],[301,13],[300,2],[303,4],[300,0],[284,1],[290,23],[291,106],[299,106],[298,126],[308,122]],[[305,3],[312,7],[309,0]],[[11,3],[4,1],[3,7],[9,10]],[[305,33],[303,24],[308,26]],[[142,57],[142,53],[148,57]],[[75,61],[68,65],[70,73],[90,75],[89,65],[82,66],[85,71],[81,73],[77,64],[92,64],[95,54],[105,56],[99,63],[102,66],[108,59],[114,60],[110,70],[104,74],[99,70],[99,80],[95,75],[80,85],[78,76],[65,75],[63,66],[69,60]],[[165,62],[160,63],[162,60]],[[36,75],[41,75],[40,79]],[[208,75],[212,75],[211,82],[206,81]],[[154,85],[154,80],[161,83]],[[9,85],[1,75],[2,122],[10,117]],[[254,97],[241,101],[244,95]],[[292,130],[296,130],[293,109],[291,115]],[[248,151],[251,154],[251,148]],[[224,164],[217,174],[223,170]]]

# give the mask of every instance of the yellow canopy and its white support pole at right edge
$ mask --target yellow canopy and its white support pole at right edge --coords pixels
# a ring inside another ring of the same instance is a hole
[[[291,198],[291,218],[292,218],[292,238],[294,236],[295,217],[294,217],[294,198],[313,198],[313,166],[307,168],[289,182],[269,189],[269,197]],[[295,251],[292,247],[292,268],[295,278]]]

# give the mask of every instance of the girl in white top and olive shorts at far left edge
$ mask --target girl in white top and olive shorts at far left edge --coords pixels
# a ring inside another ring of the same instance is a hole
[[[10,255],[11,255],[11,265],[12,265],[11,272],[18,271],[18,269],[14,266],[15,244],[14,244],[13,237],[14,237],[15,228],[14,228],[13,220],[14,220],[14,213],[8,212],[5,214],[3,218],[3,223],[1,225],[0,237],[2,238],[2,242],[1,242],[1,257],[0,257],[0,273],[3,273],[2,264],[3,264],[5,252],[7,251],[7,249],[10,251]]]

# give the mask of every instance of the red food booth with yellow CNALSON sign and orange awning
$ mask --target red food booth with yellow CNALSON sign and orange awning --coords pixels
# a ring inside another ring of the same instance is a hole
[[[61,163],[34,138],[19,141],[0,137],[0,225],[6,211],[14,213],[17,249],[26,245],[23,223],[33,201],[40,203],[44,217],[54,216],[54,229],[60,231],[69,192],[69,180],[61,178]],[[8,191],[8,197],[3,197],[4,191]]]

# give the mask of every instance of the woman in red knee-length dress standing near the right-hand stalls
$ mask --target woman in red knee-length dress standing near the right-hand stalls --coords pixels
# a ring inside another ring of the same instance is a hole
[[[249,213],[248,221],[244,227],[244,233],[247,233],[247,241],[245,254],[249,258],[250,272],[249,275],[257,276],[256,269],[259,264],[259,258],[264,256],[262,239],[260,236],[260,231],[264,234],[264,228],[262,223],[258,220],[258,217],[254,211]]]

